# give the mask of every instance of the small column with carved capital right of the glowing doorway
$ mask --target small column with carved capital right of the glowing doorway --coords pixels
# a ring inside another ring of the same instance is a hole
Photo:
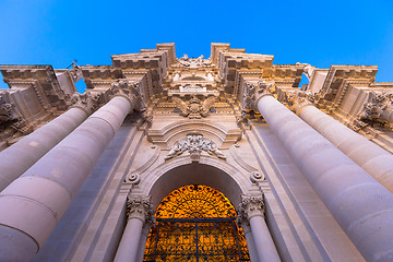
[[[252,247],[252,241],[250,241],[250,249],[249,241],[247,239],[250,257],[253,257],[253,260],[251,258],[251,261],[281,261],[277,249],[274,246],[272,236],[264,221],[264,203],[262,196],[243,195],[240,203],[239,217],[241,224],[249,223],[251,227],[255,245]],[[253,250],[257,252],[253,252]]]

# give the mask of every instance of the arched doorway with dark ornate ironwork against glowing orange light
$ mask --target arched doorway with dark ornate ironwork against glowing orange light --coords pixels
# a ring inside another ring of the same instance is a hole
[[[214,188],[181,187],[158,205],[143,261],[250,261],[236,216]]]

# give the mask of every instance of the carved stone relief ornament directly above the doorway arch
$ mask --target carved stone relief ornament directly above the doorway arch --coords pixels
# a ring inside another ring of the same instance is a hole
[[[203,134],[200,133],[189,133],[186,139],[176,142],[165,159],[174,158],[184,152],[200,154],[202,151],[207,152],[210,155],[215,155],[221,159],[226,159],[226,156],[217,148],[217,145],[212,140],[203,138]]]

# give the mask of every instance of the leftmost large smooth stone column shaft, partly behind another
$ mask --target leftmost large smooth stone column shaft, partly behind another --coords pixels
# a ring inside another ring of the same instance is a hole
[[[70,108],[52,121],[0,152],[0,191],[31,168],[56,144],[80,126],[88,114]]]

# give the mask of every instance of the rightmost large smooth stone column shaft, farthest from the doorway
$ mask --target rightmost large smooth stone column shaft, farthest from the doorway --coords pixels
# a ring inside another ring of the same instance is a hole
[[[329,117],[312,104],[303,105],[296,114],[393,192],[391,153]]]

